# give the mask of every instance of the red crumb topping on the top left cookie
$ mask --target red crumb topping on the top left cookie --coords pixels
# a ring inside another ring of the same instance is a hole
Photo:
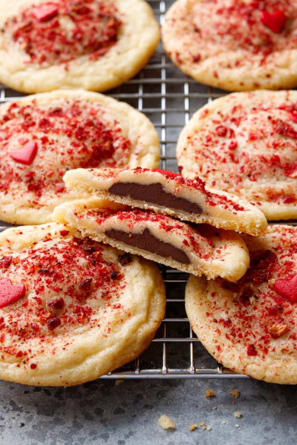
[[[117,42],[121,20],[112,2],[58,0],[32,5],[5,23],[5,32],[42,67],[89,55],[97,60]]]

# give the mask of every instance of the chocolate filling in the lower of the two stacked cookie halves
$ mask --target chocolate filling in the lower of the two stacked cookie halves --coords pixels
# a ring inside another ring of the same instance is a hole
[[[140,234],[127,233],[122,230],[110,229],[106,230],[105,235],[109,238],[122,241],[129,246],[138,247],[160,257],[171,257],[173,260],[182,264],[190,264],[188,256],[180,249],[172,246],[172,244],[155,238],[152,233],[145,228]]]

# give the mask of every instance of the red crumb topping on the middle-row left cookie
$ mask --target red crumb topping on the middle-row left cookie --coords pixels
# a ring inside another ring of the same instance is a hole
[[[25,186],[38,206],[44,193],[66,192],[67,170],[127,165],[131,143],[104,115],[99,104],[84,100],[10,103],[0,115],[0,191]]]

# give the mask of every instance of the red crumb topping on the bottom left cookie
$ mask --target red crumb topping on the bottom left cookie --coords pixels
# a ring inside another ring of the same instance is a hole
[[[24,346],[31,339],[39,339],[37,354],[43,342],[57,334],[67,348],[69,330],[100,323],[96,308],[101,304],[110,300],[111,309],[116,303],[114,310],[124,310],[116,301],[126,286],[120,259],[113,262],[102,245],[88,239],[44,235],[42,246],[7,251],[0,258],[0,300],[4,288],[21,292],[17,301],[1,305],[0,354],[21,357],[24,364],[34,361]]]

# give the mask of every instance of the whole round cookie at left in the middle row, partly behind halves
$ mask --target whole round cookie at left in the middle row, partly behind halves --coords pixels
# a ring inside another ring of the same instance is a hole
[[[83,194],[65,189],[74,168],[157,167],[157,132],[141,112],[106,95],[57,90],[0,107],[0,219],[51,221],[61,202]]]

